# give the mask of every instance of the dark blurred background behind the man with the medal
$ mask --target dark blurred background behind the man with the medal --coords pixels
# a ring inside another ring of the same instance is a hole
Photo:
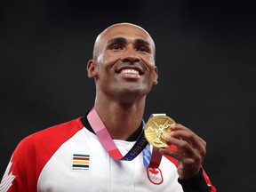
[[[159,83],[145,119],[166,113],[207,141],[219,191],[255,191],[256,6],[198,1],[1,1],[0,177],[24,137],[83,116],[95,37],[132,22],[156,42]]]

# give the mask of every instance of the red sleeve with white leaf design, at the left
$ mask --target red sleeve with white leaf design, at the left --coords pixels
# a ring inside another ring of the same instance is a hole
[[[4,172],[0,192],[36,192],[38,178],[61,144],[84,127],[80,119],[54,125],[21,140]]]

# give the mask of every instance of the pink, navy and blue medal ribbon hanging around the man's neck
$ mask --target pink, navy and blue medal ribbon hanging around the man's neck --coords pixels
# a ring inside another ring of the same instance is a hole
[[[135,142],[134,146],[127,152],[125,156],[121,154],[116,147],[115,142],[112,140],[107,128],[103,124],[98,115],[95,107],[87,115],[87,119],[92,126],[92,130],[98,136],[102,146],[108,151],[109,156],[116,160],[132,161],[142,151],[143,164],[146,168],[157,168],[161,162],[162,154],[159,152],[159,148],[153,147],[152,154],[148,140],[145,138],[144,132],[140,133],[139,139]],[[143,128],[144,128],[143,121]]]

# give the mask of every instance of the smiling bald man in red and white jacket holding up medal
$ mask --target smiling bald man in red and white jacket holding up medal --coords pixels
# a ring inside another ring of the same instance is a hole
[[[22,140],[1,191],[216,191],[202,169],[206,143],[185,126],[172,124],[170,147],[153,148],[150,157],[142,117],[157,84],[155,52],[151,36],[134,24],[100,33],[87,65],[93,108]]]

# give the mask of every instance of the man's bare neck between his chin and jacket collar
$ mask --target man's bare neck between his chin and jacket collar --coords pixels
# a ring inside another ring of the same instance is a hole
[[[141,124],[145,100],[133,104],[95,102],[95,108],[109,134],[116,140],[127,140]]]

